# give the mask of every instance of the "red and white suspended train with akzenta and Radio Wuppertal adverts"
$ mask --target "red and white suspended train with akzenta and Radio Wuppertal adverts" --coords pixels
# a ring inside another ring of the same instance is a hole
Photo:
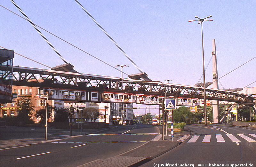
[[[51,100],[82,101],[82,102],[107,102],[107,103],[137,103],[148,105],[159,105],[164,96],[120,93],[111,91],[72,90],[58,88],[40,88],[39,97],[47,95]],[[174,98],[174,97],[170,97]],[[177,106],[196,106],[198,99],[178,97]]]

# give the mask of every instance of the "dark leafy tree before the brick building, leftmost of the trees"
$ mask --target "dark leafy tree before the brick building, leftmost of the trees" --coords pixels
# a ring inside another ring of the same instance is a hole
[[[31,119],[32,111],[34,111],[34,106],[32,105],[31,99],[29,97],[21,98],[21,103],[18,104],[17,109],[17,120],[23,125],[26,123],[34,123]]]

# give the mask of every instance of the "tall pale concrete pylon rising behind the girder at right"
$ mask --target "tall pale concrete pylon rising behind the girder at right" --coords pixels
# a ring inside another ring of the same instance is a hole
[[[218,83],[218,70],[217,70],[217,57],[216,57],[216,45],[215,39],[212,39],[212,88],[219,89]],[[219,113],[220,113],[220,106],[219,101],[213,100],[213,123],[219,123]]]

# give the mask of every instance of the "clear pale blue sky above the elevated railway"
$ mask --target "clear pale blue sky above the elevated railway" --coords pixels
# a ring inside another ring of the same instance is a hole
[[[211,60],[216,40],[218,76],[255,57],[256,1],[79,1],[124,52],[152,80],[194,85],[203,73],[201,26],[195,16],[212,15],[204,21],[205,66]],[[139,70],[124,56],[75,1],[15,0],[35,24],[65,39],[112,66],[127,64],[127,74]],[[2,6],[22,15],[9,0]],[[64,62],[32,25],[0,7],[0,46],[54,67]],[[85,74],[121,77],[121,72],[86,55],[60,39],[40,31],[61,56]],[[225,89],[244,87],[256,81],[256,58],[220,79]],[[15,55],[14,65],[46,68]],[[124,78],[127,78],[124,75]],[[205,71],[212,81],[212,61]],[[201,79],[200,82],[203,82]],[[256,83],[249,87],[256,87]],[[220,86],[220,89],[223,89]]]

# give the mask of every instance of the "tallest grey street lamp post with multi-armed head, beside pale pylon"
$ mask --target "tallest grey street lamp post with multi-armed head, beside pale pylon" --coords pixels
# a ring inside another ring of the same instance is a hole
[[[198,20],[188,20],[189,22],[192,21],[199,21],[198,24],[201,23],[201,33],[202,33],[202,54],[203,54],[203,76],[204,76],[204,125],[207,126],[207,115],[206,115],[206,95],[205,95],[205,74],[204,74],[204,41],[203,41],[203,21],[206,20],[207,18],[210,18],[212,16],[208,16],[204,19],[200,19],[197,16],[195,16],[195,18],[197,18]],[[207,21],[213,21],[213,20],[207,20]]]

